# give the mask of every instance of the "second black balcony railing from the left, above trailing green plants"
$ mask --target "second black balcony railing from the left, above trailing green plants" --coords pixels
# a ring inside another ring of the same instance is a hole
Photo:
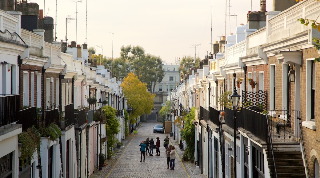
[[[22,130],[27,130],[33,125],[39,128],[41,117],[37,117],[36,107],[26,108],[19,111],[19,124],[22,124]]]

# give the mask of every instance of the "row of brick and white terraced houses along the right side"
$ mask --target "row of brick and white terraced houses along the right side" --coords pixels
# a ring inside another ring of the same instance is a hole
[[[312,38],[320,33],[297,20],[317,19],[319,8],[304,0],[266,12],[261,1],[261,10],[213,44],[216,52],[169,98],[198,108],[194,156],[203,174],[319,177],[320,54]],[[226,92],[240,95],[235,106],[221,101]]]

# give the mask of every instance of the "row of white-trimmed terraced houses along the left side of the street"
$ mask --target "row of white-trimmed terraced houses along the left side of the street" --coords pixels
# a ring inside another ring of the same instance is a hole
[[[89,177],[107,157],[97,101],[117,110],[115,139],[130,128],[121,82],[90,60],[87,44],[53,41],[37,4],[1,8],[0,177]]]

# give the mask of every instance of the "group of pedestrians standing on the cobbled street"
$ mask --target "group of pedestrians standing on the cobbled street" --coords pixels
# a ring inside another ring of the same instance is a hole
[[[168,135],[166,135],[166,137],[164,138],[164,147],[165,147],[165,153],[167,156],[167,169],[169,169],[170,166],[170,170],[174,170],[174,160],[176,159],[176,151],[174,146],[169,145],[169,137]],[[145,155],[148,156],[153,156],[153,148],[154,146],[156,146],[156,156],[160,156],[160,138],[156,137],[156,145],[155,142],[153,141],[153,138],[151,137],[149,140],[149,137],[146,140],[143,140],[140,143],[140,162],[142,162],[142,156],[143,156],[143,162],[145,159]],[[149,151],[150,148],[150,151]]]

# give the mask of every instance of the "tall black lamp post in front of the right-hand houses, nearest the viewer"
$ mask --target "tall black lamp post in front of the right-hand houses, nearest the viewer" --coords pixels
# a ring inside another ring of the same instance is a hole
[[[233,106],[233,110],[234,110],[234,116],[233,116],[233,119],[234,119],[234,127],[233,127],[233,137],[234,137],[234,140],[233,140],[233,147],[234,147],[234,173],[235,173],[235,177],[237,177],[237,144],[236,144],[236,141],[237,141],[237,135],[236,135],[236,114],[237,114],[237,111],[236,111],[236,108],[238,106],[238,103],[239,103],[239,100],[240,100],[240,95],[238,95],[237,93],[237,90],[236,90],[236,86],[234,86],[234,89],[233,89],[233,93],[232,95],[230,95],[231,97],[231,102],[232,102],[232,106]]]

